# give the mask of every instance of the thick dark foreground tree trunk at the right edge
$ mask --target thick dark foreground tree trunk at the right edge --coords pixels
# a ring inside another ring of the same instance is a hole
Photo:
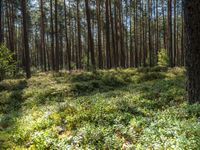
[[[200,102],[200,1],[184,1],[187,91],[190,103]]]

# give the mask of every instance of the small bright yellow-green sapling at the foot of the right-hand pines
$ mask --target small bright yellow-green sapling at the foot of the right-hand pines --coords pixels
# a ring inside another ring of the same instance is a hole
[[[169,66],[169,58],[166,49],[161,49],[158,53],[158,66]]]

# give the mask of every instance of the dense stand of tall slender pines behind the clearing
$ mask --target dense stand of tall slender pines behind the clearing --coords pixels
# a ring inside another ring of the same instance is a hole
[[[0,43],[31,69],[184,65],[182,0],[0,0]]]

